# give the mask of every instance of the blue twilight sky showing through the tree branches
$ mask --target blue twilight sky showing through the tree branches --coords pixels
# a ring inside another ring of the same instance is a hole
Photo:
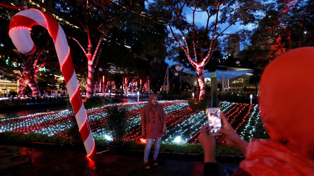
[[[149,2],[149,3],[150,3],[150,2],[153,2],[153,0],[149,0],[148,2]],[[148,3],[145,1],[145,6],[147,6],[147,4],[148,4]],[[193,13],[192,13],[192,10],[189,9],[189,8],[187,8],[187,7],[185,7],[185,8],[183,8],[183,12],[186,13],[186,18],[187,18],[187,20],[189,20],[189,21],[192,23],[192,20],[193,20]],[[197,26],[206,26],[207,17],[208,17],[208,16],[207,16],[207,13],[206,13],[206,12],[196,12],[196,13],[195,13],[195,18],[194,18],[195,24],[196,24]],[[211,23],[214,19],[215,19],[215,17],[209,18],[209,23]],[[225,23],[225,24],[219,25],[219,27],[222,28],[222,29],[225,29],[228,25],[229,25],[229,24],[226,24],[226,23]],[[249,24],[249,25],[244,26],[244,25],[240,25],[240,22],[238,22],[238,23],[236,23],[236,25],[230,26],[224,33],[225,33],[225,34],[232,34],[232,33],[235,33],[236,31],[238,31],[239,29],[243,29],[243,28],[245,28],[245,29],[251,29],[251,30],[252,30],[252,29],[255,28],[256,26],[257,26],[257,25],[254,25],[254,24]],[[240,51],[243,50],[243,48],[244,48],[244,46],[240,44]],[[226,53],[224,53],[224,54],[226,54]],[[172,60],[166,59],[165,61],[166,61],[166,63],[167,63],[169,66],[174,65],[174,64],[177,64],[176,62],[173,62]]]

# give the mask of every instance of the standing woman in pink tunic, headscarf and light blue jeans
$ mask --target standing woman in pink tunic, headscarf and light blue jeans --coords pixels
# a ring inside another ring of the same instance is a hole
[[[142,136],[147,138],[147,143],[144,151],[144,165],[145,168],[150,168],[148,164],[148,155],[150,148],[155,140],[154,147],[154,165],[157,166],[157,156],[160,148],[161,137],[165,136],[167,115],[164,108],[158,104],[156,94],[151,94],[147,105],[142,110]]]

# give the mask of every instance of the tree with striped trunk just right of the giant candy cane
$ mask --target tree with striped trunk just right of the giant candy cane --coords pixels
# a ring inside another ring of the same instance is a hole
[[[112,18],[107,15],[104,9],[107,9],[110,6],[110,1],[87,1],[78,2],[81,8],[79,11],[76,10],[72,13],[77,19],[79,24],[83,27],[84,32],[87,35],[87,47],[86,49],[80,44],[80,42],[72,36],[69,38],[73,39],[81,47],[84,55],[87,59],[87,68],[88,68],[88,79],[87,79],[87,90],[86,98],[90,98],[92,95],[93,87],[93,73],[98,64],[102,47],[100,46],[105,35],[109,32],[110,27],[105,26],[109,23]],[[84,22],[83,22],[84,21]],[[95,43],[97,41],[97,44]],[[96,47],[94,47],[96,44]],[[96,57],[97,56],[97,57]]]

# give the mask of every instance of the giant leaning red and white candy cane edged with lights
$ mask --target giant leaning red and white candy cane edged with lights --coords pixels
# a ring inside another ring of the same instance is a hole
[[[61,71],[67,85],[70,102],[84,141],[87,156],[93,156],[96,153],[95,142],[89,127],[82,96],[80,95],[68,41],[60,24],[51,16],[37,9],[23,10],[15,14],[10,22],[9,35],[12,42],[21,53],[34,53],[36,47],[30,37],[30,30],[34,25],[46,28],[54,41]]]

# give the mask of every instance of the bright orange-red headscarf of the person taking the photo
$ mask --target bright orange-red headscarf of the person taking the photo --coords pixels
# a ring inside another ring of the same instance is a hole
[[[240,168],[251,175],[314,175],[314,47],[288,51],[260,81],[261,119],[270,136],[253,140]]]

